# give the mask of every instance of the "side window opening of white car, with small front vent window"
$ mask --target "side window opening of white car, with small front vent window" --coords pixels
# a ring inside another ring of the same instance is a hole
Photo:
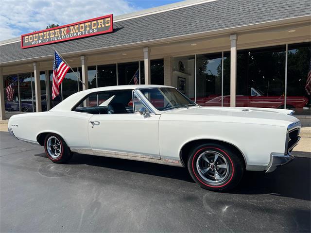
[[[89,94],[72,111],[88,114],[133,114],[132,90],[102,91]],[[140,100],[134,100],[135,105]],[[138,104],[138,111],[142,104]]]

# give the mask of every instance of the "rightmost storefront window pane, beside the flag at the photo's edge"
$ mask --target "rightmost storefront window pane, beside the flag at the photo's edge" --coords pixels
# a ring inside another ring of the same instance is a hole
[[[311,97],[307,92],[310,54],[310,43],[288,45],[286,108],[294,110],[295,115],[311,115]]]

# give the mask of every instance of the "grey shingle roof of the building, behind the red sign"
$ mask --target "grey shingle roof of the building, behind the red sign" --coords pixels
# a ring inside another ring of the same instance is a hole
[[[216,0],[114,23],[114,32],[21,49],[20,42],[0,46],[0,63],[53,54],[99,49],[208,32],[247,24],[310,15],[310,0]]]

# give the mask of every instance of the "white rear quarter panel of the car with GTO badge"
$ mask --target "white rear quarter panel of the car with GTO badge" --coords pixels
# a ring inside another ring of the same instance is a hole
[[[69,147],[89,148],[87,131],[90,117],[73,111],[20,114],[9,119],[8,127],[20,140],[37,143],[38,134],[57,133]]]

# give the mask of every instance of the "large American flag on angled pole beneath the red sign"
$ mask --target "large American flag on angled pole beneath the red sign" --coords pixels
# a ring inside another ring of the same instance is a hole
[[[55,51],[53,64],[52,100],[59,95],[59,85],[63,82],[69,66],[61,59]]]

